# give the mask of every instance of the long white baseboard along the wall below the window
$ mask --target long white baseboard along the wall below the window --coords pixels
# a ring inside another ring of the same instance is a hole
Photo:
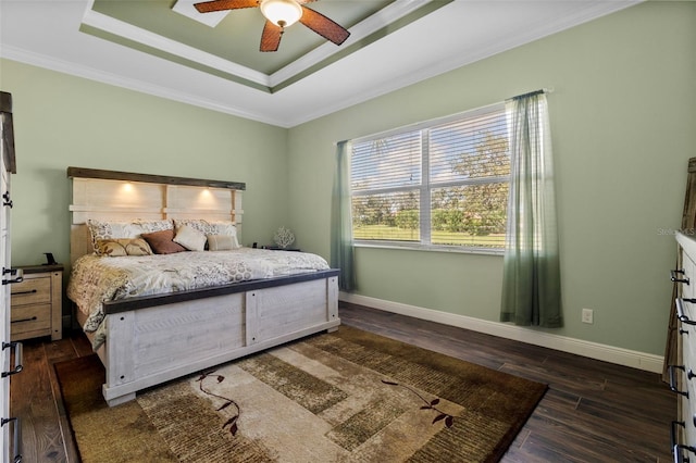
[[[489,322],[471,316],[457,315],[453,313],[440,312],[432,309],[385,301],[383,299],[343,291],[339,293],[338,299],[359,305],[383,310],[385,312],[393,312],[412,316],[414,318],[442,323],[444,325],[457,326],[459,328],[471,329],[472,331],[485,333],[487,335],[498,336],[506,339],[513,339],[530,345],[542,346],[595,360],[616,363],[618,365],[631,366],[633,368],[652,373],[662,373],[662,362],[664,361],[664,358],[661,355],[584,341],[582,339],[538,331],[507,323]]]

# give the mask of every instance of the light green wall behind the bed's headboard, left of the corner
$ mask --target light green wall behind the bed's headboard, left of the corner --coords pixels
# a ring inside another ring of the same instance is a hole
[[[287,225],[287,129],[14,61],[0,61],[12,93],[12,263],[42,252],[70,262],[67,166],[245,182],[241,240],[272,242]]]

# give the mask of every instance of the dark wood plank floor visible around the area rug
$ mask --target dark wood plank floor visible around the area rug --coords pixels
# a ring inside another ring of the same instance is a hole
[[[340,304],[341,322],[547,383],[549,390],[504,462],[667,462],[676,398],[657,374],[388,312]],[[13,376],[25,462],[77,461],[52,364],[90,353],[82,335],[25,341]]]

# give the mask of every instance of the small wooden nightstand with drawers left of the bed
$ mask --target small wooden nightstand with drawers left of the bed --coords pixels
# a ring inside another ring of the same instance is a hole
[[[18,266],[24,280],[11,286],[10,338],[13,341],[63,337],[63,265]]]

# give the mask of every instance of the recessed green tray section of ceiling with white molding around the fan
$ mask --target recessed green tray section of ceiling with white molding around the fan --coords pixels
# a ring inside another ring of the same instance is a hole
[[[199,13],[199,0],[94,0],[80,30],[249,87],[274,92],[321,71],[449,1],[336,1],[308,4],[352,28],[337,47],[296,24],[277,52],[259,51],[264,17],[258,8]],[[349,8],[347,8],[349,7]]]

